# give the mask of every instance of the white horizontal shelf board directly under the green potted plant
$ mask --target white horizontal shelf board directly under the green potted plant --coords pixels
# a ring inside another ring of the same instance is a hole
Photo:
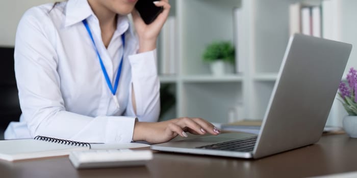
[[[241,75],[192,75],[182,77],[183,82],[241,82]]]

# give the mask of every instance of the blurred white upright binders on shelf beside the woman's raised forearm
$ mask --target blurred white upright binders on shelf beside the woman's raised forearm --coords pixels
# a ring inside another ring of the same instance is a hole
[[[176,19],[174,16],[169,16],[161,31],[159,73],[162,75],[177,73],[176,35]]]

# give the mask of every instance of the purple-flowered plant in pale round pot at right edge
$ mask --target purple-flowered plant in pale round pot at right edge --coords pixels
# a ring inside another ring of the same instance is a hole
[[[348,113],[342,125],[350,137],[357,138],[357,71],[351,68],[346,79],[347,83],[341,81],[339,85],[340,101]]]

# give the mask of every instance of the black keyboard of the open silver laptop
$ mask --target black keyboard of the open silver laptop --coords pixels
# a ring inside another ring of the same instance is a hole
[[[222,150],[232,152],[251,152],[254,149],[258,136],[245,138],[242,140],[231,140],[205,146],[196,147],[197,149]]]

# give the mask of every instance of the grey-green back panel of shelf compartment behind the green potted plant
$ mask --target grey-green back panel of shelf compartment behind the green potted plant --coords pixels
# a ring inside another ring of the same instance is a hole
[[[213,41],[234,40],[233,9],[241,0],[180,0],[177,10],[183,75],[208,74],[209,65],[201,58],[205,47]]]

